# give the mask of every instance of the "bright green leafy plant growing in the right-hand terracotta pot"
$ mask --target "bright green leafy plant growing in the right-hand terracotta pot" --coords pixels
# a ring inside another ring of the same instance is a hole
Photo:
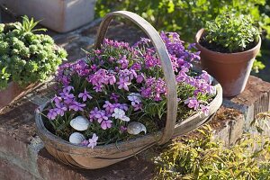
[[[220,52],[241,52],[257,45],[259,31],[250,16],[220,14],[206,22],[200,43],[207,49]]]

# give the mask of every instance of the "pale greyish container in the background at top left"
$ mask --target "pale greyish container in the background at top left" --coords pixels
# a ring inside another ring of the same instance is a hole
[[[0,0],[14,14],[28,15],[58,32],[72,31],[94,20],[95,0]]]

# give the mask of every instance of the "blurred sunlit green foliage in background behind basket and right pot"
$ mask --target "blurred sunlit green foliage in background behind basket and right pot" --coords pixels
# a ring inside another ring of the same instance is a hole
[[[96,17],[115,10],[128,10],[147,19],[157,30],[176,31],[181,40],[193,42],[195,33],[219,14],[249,14],[262,34],[262,57],[254,70],[270,66],[267,38],[270,39],[270,0],[97,0]],[[267,57],[266,57],[267,56]],[[259,74],[270,81],[268,71]]]

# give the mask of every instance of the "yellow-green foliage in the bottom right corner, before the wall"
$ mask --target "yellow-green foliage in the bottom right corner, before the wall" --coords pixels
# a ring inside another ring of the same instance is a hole
[[[157,157],[156,179],[268,179],[269,137],[246,134],[236,146],[224,148],[212,140],[208,126],[199,131],[192,139],[175,139]]]

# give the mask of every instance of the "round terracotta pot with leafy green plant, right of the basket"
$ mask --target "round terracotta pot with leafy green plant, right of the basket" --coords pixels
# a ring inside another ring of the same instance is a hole
[[[202,67],[222,85],[224,96],[240,94],[259,52],[259,31],[247,15],[220,14],[197,32]]]

